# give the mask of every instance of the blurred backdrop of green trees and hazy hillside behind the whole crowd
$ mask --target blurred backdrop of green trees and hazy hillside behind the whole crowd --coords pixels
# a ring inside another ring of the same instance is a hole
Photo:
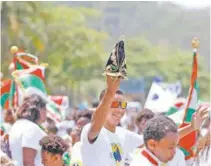
[[[4,1],[1,2],[2,72],[5,77],[9,75],[8,65],[12,60],[9,49],[17,45],[49,64],[46,83],[52,94],[72,98],[76,97],[73,94],[94,96],[104,87],[101,74],[110,51],[116,39],[125,34],[129,77],[161,75],[165,81],[181,80],[183,95],[187,96],[191,38],[199,36],[200,53],[209,52],[204,37],[204,34],[209,36],[208,26],[203,21],[207,13],[203,12],[199,18],[197,14],[187,15],[184,9],[160,7],[157,3]],[[201,27],[204,29],[198,31]],[[199,62],[200,95],[209,99],[210,79],[205,72],[203,53]]]

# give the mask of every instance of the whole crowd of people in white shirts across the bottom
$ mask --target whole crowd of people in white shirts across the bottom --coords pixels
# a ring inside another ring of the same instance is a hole
[[[164,114],[127,110],[120,79],[107,76],[107,87],[93,109],[72,111],[61,123],[46,117],[46,101],[24,97],[16,110],[4,111],[2,166],[208,166],[210,117],[197,110],[190,125],[178,128]],[[128,117],[129,123],[123,121]],[[130,116],[130,117],[129,117]],[[179,139],[198,132],[195,157],[185,160]]]

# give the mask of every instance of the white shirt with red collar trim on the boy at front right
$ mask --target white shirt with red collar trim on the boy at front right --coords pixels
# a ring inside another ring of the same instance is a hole
[[[143,148],[142,150],[145,150],[158,163],[158,166],[163,166],[163,165],[165,165],[165,166],[186,166],[185,165],[185,156],[179,148],[176,149],[176,153],[174,155],[174,158],[168,163],[161,162],[156,156],[154,156],[146,148]],[[142,155],[142,153],[141,153],[142,150],[140,150],[139,154],[136,154],[133,157],[130,166],[140,166],[140,165],[154,166],[146,157],[144,157]]]

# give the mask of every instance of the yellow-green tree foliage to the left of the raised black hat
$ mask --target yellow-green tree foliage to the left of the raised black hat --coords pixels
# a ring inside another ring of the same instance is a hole
[[[43,2],[5,2],[2,11],[5,11],[2,20],[14,18],[13,22],[4,24],[3,35],[8,42],[3,45],[3,61],[12,59],[11,45],[35,53],[41,61],[49,63],[47,84],[50,89],[60,85],[71,87],[72,83],[93,79],[102,72],[99,69],[104,63],[103,44],[107,34],[86,24],[87,20],[98,19],[100,12]],[[8,64],[5,63],[4,71]]]

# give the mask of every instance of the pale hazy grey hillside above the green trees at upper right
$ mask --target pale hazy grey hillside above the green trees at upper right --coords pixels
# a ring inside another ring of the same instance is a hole
[[[190,40],[200,39],[201,56],[209,70],[210,7],[187,9],[172,2],[64,2],[70,6],[86,6],[102,11],[97,29],[113,39],[142,35],[154,44],[167,43],[189,50]]]

